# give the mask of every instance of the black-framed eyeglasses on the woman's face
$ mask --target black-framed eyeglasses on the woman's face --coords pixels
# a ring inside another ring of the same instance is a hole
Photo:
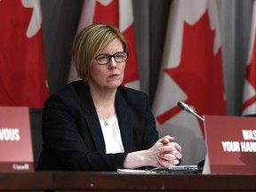
[[[100,65],[107,65],[111,58],[113,57],[116,63],[122,63],[128,59],[128,52],[116,52],[113,55],[109,54],[99,54],[94,59],[97,61]]]

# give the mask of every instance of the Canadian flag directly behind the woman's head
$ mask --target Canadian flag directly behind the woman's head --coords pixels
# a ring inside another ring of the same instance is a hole
[[[78,31],[92,23],[108,23],[114,25],[124,34],[128,44],[129,59],[126,61],[123,84],[140,90],[132,0],[84,1]],[[71,64],[68,82],[76,79],[76,68],[74,64]]]

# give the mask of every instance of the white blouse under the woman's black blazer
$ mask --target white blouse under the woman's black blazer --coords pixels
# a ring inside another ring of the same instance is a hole
[[[106,154],[123,153],[124,146],[117,116],[111,116],[106,120],[100,119],[100,126],[105,140]]]

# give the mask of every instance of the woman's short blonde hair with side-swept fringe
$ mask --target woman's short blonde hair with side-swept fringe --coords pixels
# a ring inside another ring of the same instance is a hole
[[[126,40],[120,30],[114,26],[102,23],[92,24],[77,34],[72,44],[71,56],[80,78],[88,81],[92,60],[116,38],[121,41],[126,52]]]

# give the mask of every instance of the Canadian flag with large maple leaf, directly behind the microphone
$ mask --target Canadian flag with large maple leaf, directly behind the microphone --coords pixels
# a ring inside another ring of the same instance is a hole
[[[153,112],[160,135],[181,144],[182,164],[204,159],[204,124],[181,111],[178,101],[200,116],[227,115],[217,13],[215,0],[171,4]]]

